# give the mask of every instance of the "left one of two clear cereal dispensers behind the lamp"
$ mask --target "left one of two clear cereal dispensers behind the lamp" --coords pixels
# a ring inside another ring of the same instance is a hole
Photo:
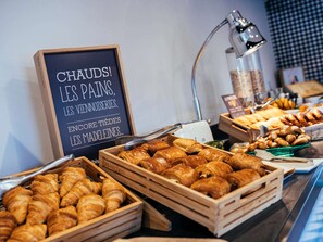
[[[225,53],[234,93],[244,107],[253,106],[254,97],[248,60],[246,58],[237,59],[233,48],[226,49]]]

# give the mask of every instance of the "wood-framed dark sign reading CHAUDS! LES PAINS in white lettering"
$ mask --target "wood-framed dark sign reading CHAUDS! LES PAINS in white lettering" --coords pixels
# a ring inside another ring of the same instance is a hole
[[[97,158],[135,133],[119,46],[39,50],[34,61],[55,158]]]

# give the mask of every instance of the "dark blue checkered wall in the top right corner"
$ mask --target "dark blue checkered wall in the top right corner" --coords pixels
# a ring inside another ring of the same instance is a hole
[[[266,0],[277,68],[301,66],[323,82],[323,0]]]

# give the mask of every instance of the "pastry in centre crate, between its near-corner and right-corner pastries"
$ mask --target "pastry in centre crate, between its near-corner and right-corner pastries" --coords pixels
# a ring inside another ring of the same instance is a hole
[[[254,169],[241,169],[226,176],[231,183],[232,190],[246,186],[260,178],[259,173]]]

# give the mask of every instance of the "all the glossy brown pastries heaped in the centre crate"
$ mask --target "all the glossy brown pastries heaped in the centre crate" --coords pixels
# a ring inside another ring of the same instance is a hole
[[[153,140],[117,156],[213,199],[265,175],[259,157],[245,153],[232,156],[185,138],[175,139],[172,145]]]

